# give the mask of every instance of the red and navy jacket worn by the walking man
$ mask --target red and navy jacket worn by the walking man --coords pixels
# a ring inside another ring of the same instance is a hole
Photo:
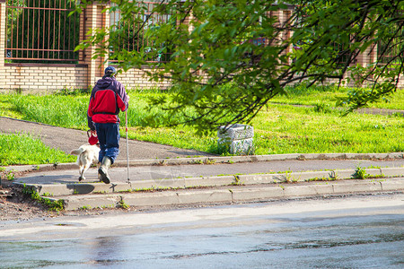
[[[92,89],[88,106],[88,126],[93,123],[119,123],[119,109],[127,110],[128,97],[125,87],[115,77],[104,76]]]

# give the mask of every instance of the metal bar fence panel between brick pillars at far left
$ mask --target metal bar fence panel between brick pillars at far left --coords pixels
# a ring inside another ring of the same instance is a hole
[[[80,16],[75,0],[7,0],[5,60],[76,63]]]

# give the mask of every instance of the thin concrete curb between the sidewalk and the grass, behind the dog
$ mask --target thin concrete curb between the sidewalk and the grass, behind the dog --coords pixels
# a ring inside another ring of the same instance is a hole
[[[188,164],[214,164],[237,163],[254,161],[288,161],[288,160],[387,160],[404,159],[404,152],[391,153],[292,153],[276,155],[250,155],[250,156],[225,156],[225,157],[193,157],[176,159],[134,160],[129,161],[129,166],[153,166],[153,165],[188,165]],[[126,167],[127,161],[116,161],[116,167]],[[5,171],[47,171],[54,169],[77,169],[75,162],[21,165],[5,167]]]

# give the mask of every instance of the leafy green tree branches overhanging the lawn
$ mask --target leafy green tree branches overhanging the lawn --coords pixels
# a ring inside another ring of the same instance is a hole
[[[367,87],[357,87],[338,100],[348,113],[394,93],[404,66],[404,47],[398,41],[404,1],[168,0],[152,11],[171,13],[168,21],[159,23],[149,23],[152,16],[145,16],[141,5],[110,2],[115,4],[110,10],[119,9],[123,22],[145,22],[147,46],[156,48],[147,53],[145,47],[112,48],[119,67],[127,71],[149,65],[152,80],[170,79],[176,87],[171,97],[153,100],[150,108],[158,106],[167,113],[148,117],[150,126],[182,123],[204,133],[217,126],[250,123],[270,100],[285,93],[285,87],[303,81]],[[85,1],[80,7],[84,6]],[[277,17],[281,10],[290,12],[286,20]],[[192,19],[186,24],[189,14]],[[78,48],[101,45],[95,56],[105,56],[114,39],[125,33],[114,32],[111,40],[108,34],[108,29],[93,32]],[[377,44],[385,48],[378,60],[356,65],[356,57],[375,50]],[[391,51],[395,54],[386,63],[383,56]],[[169,61],[146,62],[168,52]]]

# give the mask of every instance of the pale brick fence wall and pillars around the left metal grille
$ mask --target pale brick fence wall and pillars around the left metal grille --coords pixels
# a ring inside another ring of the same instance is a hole
[[[57,63],[48,61],[46,64],[42,64],[38,60],[31,60],[31,63],[27,63],[27,61],[22,63],[8,61],[7,56],[9,56],[10,50],[6,48],[7,41],[9,41],[7,39],[6,19],[7,15],[9,15],[7,9],[10,10],[11,8],[11,6],[7,6],[7,1],[0,0],[0,68],[2,70],[0,72],[0,82],[2,82],[0,91],[45,93],[62,89],[87,89],[101,78],[106,65],[102,63],[104,59],[92,59],[92,53],[95,49],[93,47],[79,51],[78,61],[75,64],[65,64],[61,61]],[[85,33],[88,30],[109,26],[110,15],[101,13],[104,8],[105,6],[101,4],[90,4],[83,13],[79,14],[80,41],[86,38]],[[40,9],[40,7],[36,9]],[[66,10],[67,12],[69,10]],[[32,18],[32,20],[36,21],[40,20],[40,18],[36,20]],[[152,88],[155,86],[167,87],[170,85],[170,82],[159,84],[149,82],[145,77],[144,69],[132,69],[127,73],[119,74],[119,81],[123,82],[127,89]]]

